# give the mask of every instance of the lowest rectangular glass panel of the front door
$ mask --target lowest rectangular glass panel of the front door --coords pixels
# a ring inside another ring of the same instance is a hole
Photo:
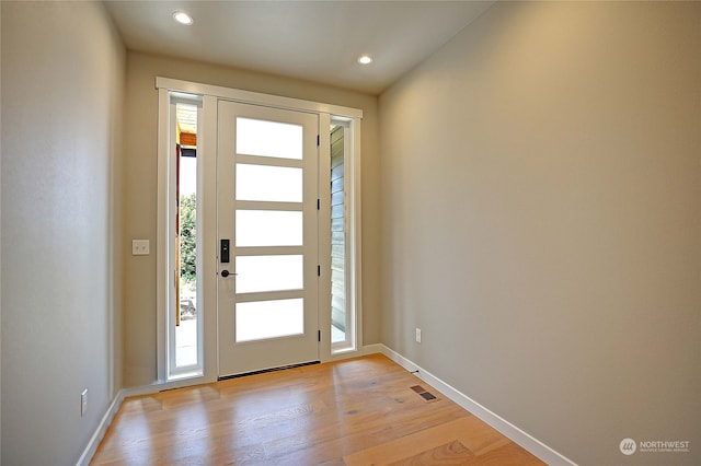
[[[235,316],[235,339],[238,342],[304,333],[304,300],[302,298],[237,303]]]

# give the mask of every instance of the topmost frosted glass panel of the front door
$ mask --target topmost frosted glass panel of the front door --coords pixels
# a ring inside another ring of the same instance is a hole
[[[237,153],[302,160],[302,126],[238,117]]]

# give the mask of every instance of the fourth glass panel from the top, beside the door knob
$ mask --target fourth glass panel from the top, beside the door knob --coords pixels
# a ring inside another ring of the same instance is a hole
[[[238,256],[237,293],[301,290],[304,288],[303,257]]]

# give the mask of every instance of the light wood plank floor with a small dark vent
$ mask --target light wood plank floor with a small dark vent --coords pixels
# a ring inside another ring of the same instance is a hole
[[[91,464],[543,463],[374,354],[127,398]]]

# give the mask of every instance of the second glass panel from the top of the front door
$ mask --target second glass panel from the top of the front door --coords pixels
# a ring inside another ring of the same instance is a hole
[[[302,168],[237,164],[237,199],[302,201]]]

